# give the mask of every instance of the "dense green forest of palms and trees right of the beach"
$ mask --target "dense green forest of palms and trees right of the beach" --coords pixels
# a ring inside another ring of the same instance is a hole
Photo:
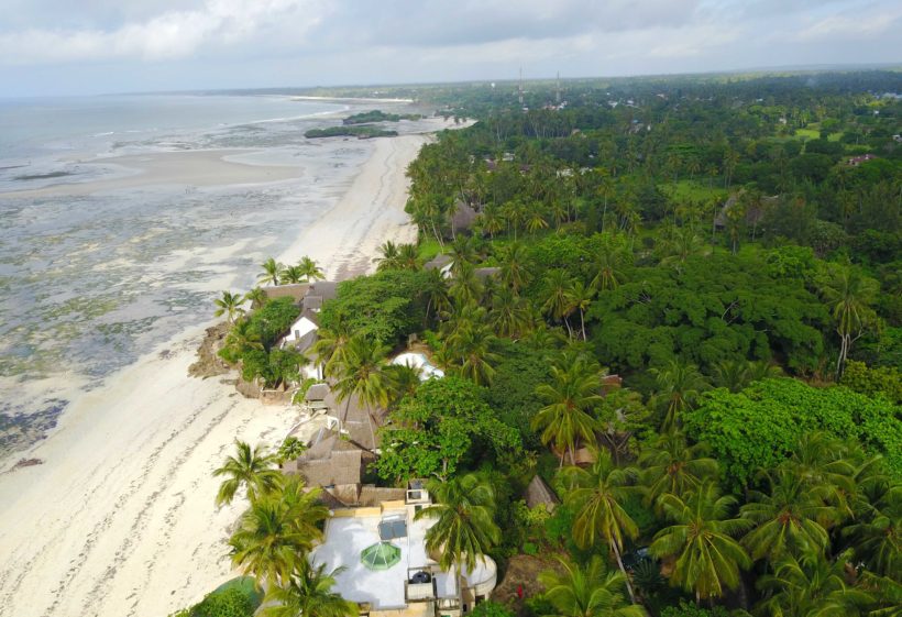
[[[902,75],[573,81],[563,107],[539,84],[525,106],[509,85],[416,89],[477,122],[409,168],[429,247],[383,245],[317,352],[385,411],[382,480],[444,481],[443,563],[557,558],[516,606],[536,617],[898,614],[887,91]],[[422,269],[437,245],[448,277]],[[387,365],[413,333],[448,377]],[[536,474],[553,513],[521,499]]]

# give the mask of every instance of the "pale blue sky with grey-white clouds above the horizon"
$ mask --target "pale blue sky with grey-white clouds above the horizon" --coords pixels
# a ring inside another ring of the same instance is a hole
[[[0,0],[0,97],[902,64],[900,0]]]

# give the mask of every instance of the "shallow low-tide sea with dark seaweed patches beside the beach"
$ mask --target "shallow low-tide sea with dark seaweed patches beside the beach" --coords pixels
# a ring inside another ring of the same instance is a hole
[[[221,289],[254,285],[258,264],[321,216],[365,161],[365,142],[302,136],[343,109],[268,96],[0,101],[0,458],[53,427],[66,384],[96,386],[209,320]],[[301,176],[21,194],[121,174],[96,164],[120,154],[210,148],[250,148],[255,163],[299,165]]]

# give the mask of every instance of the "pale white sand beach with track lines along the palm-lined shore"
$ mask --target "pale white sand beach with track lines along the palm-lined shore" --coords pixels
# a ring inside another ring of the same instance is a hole
[[[308,254],[336,275],[371,267],[385,240],[413,240],[404,170],[427,139],[378,140],[348,194],[282,261]],[[297,412],[188,377],[201,334],[82,394],[23,453],[44,464],[0,475],[0,616],[165,616],[237,574],[226,540],[245,504],[217,509],[210,472],[235,438],[278,443]]]

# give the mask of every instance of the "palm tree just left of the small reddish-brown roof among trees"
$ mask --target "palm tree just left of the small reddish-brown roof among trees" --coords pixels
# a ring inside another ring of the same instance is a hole
[[[536,388],[536,395],[547,405],[532,417],[532,429],[542,430],[542,443],[554,444],[561,454],[561,466],[568,451],[570,461],[576,464],[574,450],[579,440],[594,442],[597,422],[588,409],[602,400],[600,392],[597,366],[581,360],[563,368],[551,366],[551,383]]]

